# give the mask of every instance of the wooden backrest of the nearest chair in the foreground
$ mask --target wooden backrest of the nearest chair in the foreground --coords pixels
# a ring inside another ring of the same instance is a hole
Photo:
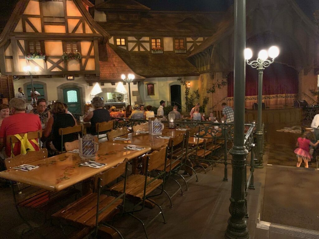
[[[98,187],[99,178],[102,179],[100,181],[100,186],[103,187],[111,182],[113,182],[116,178],[123,175],[127,168],[128,159],[125,158],[122,163],[117,164],[117,166],[112,167],[102,173],[95,175],[94,177],[94,185],[95,189]]]

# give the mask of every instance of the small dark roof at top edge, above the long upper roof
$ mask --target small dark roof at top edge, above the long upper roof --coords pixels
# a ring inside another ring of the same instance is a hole
[[[104,3],[97,5],[96,10],[136,10],[136,11],[149,11],[150,8],[140,4],[134,0],[108,0]]]

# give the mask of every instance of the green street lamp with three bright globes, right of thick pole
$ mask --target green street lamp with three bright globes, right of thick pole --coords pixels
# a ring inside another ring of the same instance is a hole
[[[245,52],[245,60],[248,65],[252,68],[256,68],[258,70],[258,124],[257,124],[257,150],[259,152],[260,160],[255,164],[256,168],[263,168],[263,131],[262,131],[262,102],[263,102],[263,70],[270,66],[271,63],[275,61],[275,58],[279,55],[279,48],[276,46],[272,46],[266,50],[261,50],[258,53],[258,58],[256,61],[249,62],[249,59],[253,56],[253,52],[251,49],[246,48]],[[271,60],[268,60],[268,57]]]

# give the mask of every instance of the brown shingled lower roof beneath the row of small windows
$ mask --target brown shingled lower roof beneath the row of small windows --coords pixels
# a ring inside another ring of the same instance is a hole
[[[109,46],[140,76],[166,77],[199,75],[196,67],[186,59],[187,54],[176,54],[174,52],[152,54],[150,52],[127,51],[112,44],[109,44]]]

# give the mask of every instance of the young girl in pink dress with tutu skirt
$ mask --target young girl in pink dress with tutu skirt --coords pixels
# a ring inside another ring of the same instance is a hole
[[[305,163],[305,168],[308,168],[308,160],[311,160],[312,155],[309,154],[309,145],[316,147],[319,143],[319,140],[314,144],[310,141],[313,138],[313,133],[310,131],[305,132],[302,137],[297,139],[296,146],[298,148],[295,149],[294,153],[297,154],[298,162],[297,167],[300,167],[300,164],[303,160]]]

